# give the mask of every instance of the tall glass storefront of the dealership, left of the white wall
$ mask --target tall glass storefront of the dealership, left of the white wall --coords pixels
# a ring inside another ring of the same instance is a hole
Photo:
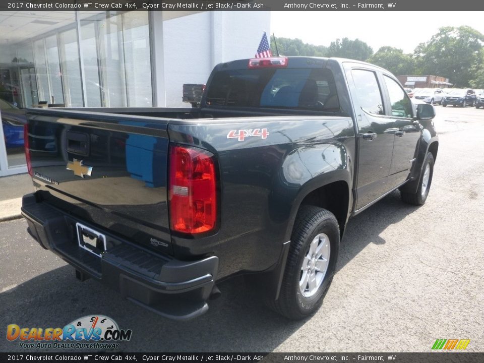
[[[27,107],[152,105],[148,12],[38,12],[29,19],[17,38],[0,35],[0,158],[6,150],[9,167],[25,165]]]

